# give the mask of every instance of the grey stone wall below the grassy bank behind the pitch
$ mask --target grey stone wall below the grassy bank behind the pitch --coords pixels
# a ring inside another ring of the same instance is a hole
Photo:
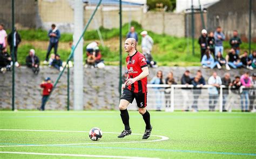
[[[172,71],[174,78],[180,83],[180,78],[184,71],[188,69],[191,71],[191,77],[196,75],[200,67],[159,67],[150,69],[150,81],[156,75],[158,70],[162,70],[164,78],[166,78],[169,71]],[[207,80],[214,70],[201,69],[203,76]],[[215,70],[218,75],[223,77],[226,70]],[[248,71],[246,69],[231,70],[231,77],[234,75],[241,75]],[[32,71],[26,67],[16,68],[16,82],[15,82],[15,104],[19,110],[35,110],[41,105],[42,90],[39,84],[45,77],[51,77],[55,82],[59,71],[54,68],[41,67],[38,75],[34,75]],[[67,105],[67,72],[63,74],[53,91],[49,102],[46,105],[46,110],[66,110]],[[70,110],[73,109],[73,69],[70,69]],[[253,71],[251,71],[253,73]],[[11,109],[11,72],[0,74],[0,110]],[[84,110],[111,110],[118,109],[119,104],[119,67],[106,66],[104,69],[84,69]]]

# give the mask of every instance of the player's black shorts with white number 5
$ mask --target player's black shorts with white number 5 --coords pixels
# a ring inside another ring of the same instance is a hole
[[[139,108],[147,106],[147,93],[134,93],[128,89],[124,89],[120,97],[120,99],[125,99],[130,103],[133,102],[134,98],[136,99]]]

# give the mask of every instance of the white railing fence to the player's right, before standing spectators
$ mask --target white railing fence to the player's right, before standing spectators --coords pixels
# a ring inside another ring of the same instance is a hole
[[[256,88],[246,89],[241,86],[239,90],[226,88],[221,85],[217,91],[214,86],[204,85],[194,88],[193,85],[147,85],[147,109],[183,111],[232,111],[232,110],[254,110],[256,106]],[[136,100],[128,107],[136,110]]]

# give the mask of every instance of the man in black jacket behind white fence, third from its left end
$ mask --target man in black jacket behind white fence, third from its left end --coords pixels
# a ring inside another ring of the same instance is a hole
[[[190,110],[189,107],[189,101],[190,101],[190,96],[191,96],[191,88],[188,88],[188,85],[192,84],[191,83],[191,78],[190,78],[190,71],[186,70],[185,73],[181,77],[181,84],[185,84],[186,87],[182,88],[182,96],[183,96],[183,110],[188,111]]]

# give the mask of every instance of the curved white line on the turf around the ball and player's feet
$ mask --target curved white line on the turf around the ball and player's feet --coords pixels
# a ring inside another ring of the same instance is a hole
[[[87,131],[58,131],[58,130],[32,130],[32,129],[0,129],[0,131],[28,131],[28,132],[71,132],[71,133],[89,133]],[[106,134],[119,134],[113,132],[104,132]],[[131,134],[131,135],[143,135],[143,134]],[[146,141],[125,141],[125,142],[94,142],[94,143],[66,143],[66,144],[28,144],[28,145],[1,145],[0,147],[36,147],[36,146],[75,146],[75,145],[86,145],[86,144],[115,144],[115,143],[141,143],[141,142],[157,142],[169,140],[166,136],[151,135],[161,139],[157,140],[146,140]]]

